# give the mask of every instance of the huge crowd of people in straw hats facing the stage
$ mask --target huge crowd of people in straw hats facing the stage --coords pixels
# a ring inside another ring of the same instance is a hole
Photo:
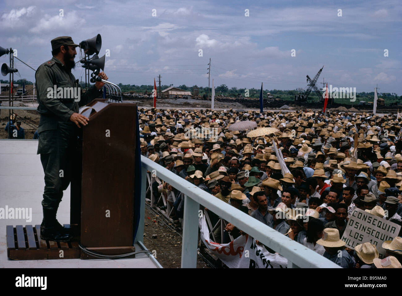
[[[401,232],[382,243],[382,260],[369,242],[353,250],[341,240],[356,208],[402,225],[400,118],[155,108],[138,115],[141,154],[211,196],[341,267],[401,268]],[[260,133],[253,137],[250,131]],[[160,184],[151,185],[157,197]],[[168,195],[167,202],[178,223],[184,198],[169,184],[163,187],[176,197]],[[215,225],[219,217],[207,212]],[[219,229],[213,232],[224,243],[229,234],[244,235],[230,221],[224,237]]]

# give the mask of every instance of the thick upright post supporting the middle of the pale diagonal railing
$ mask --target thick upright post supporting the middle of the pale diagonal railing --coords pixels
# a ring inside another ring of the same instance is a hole
[[[200,204],[191,197],[184,196],[183,245],[181,247],[181,267],[197,267],[198,211]]]

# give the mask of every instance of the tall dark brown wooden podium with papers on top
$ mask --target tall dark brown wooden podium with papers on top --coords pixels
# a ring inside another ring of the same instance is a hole
[[[82,181],[71,184],[70,224],[80,229],[80,243],[90,251],[130,253],[135,251],[137,106],[96,99],[86,107],[81,111],[89,118],[82,129]],[[81,259],[93,258],[81,251]]]

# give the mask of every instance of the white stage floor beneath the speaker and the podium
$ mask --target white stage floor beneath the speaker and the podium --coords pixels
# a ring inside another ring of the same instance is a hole
[[[42,222],[41,200],[45,182],[37,140],[0,140],[0,208],[32,208],[32,221],[0,219],[0,267],[8,268],[157,268],[146,253],[132,259],[57,259],[16,261],[7,258],[6,225],[37,225]],[[57,211],[61,224],[70,223],[70,186]],[[135,244],[135,251],[142,247]]]

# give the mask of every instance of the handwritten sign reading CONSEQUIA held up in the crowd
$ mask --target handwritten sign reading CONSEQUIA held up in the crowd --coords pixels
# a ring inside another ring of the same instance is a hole
[[[396,223],[356,208],[349,217],[342,240],[346,242],[345,247],[350,249],[355,249],[362,243],[371,243],[377,248],[381,259],[386,255],[386,250],[381,247],[382,243],[397,237],[400,228]]]

